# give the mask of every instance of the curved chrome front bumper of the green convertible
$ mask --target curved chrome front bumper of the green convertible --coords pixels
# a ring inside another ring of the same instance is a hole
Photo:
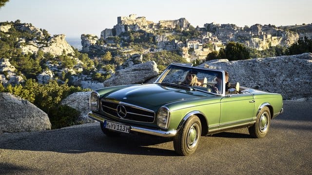
[[[94,119],[100,123],[104,123],[104,121],[114,122],[114,121],[111,121],[110,119],[106,119],[104,116],[100,116],[100,115],[95,114],[93,112],[89,112],[88,116],[89,116],[89,118]],[[117,123],[119,123],[119,122],[117,122]],[[120,124],[125,124],[125,123],[120,123]],[[129,125],[130,131],[133,131],[133,132],[150,134],[150,135],[160,136],[160,137],[173,137],[176,135],[176,130],[164,131],[164,130],[160,130],[160,129],[154,129],[154,128],[151,129],[151,128],[146,128],[146,127],[141,127],[141,126],[135,126],[135,125],[131,125],[131,124],[126,124],[126,125]]]

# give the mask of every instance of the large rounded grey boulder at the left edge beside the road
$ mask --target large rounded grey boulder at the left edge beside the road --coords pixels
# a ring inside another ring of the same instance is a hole
[[[0,133],[50,130],[48,115],[27,100],[0,93]]]

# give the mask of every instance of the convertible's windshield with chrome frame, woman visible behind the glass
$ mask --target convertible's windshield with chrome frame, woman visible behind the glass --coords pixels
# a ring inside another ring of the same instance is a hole
[[[170,65],[155,83],[189,86],[215,94],[223,94],[224,72],[222,70]]]

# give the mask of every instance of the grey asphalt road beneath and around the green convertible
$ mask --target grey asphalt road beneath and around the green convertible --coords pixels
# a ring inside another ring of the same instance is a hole
[[[0,175],[312,174],[312,102],[284,102],[264,139],[248,129],[201,137],[196,152],[177,156],[169,139],[108,138],[98,123],[52,131],[0,134]]]

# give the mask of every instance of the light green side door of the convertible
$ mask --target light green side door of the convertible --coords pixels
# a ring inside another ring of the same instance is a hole
[[[220,129],[244,125],[252,121],[255,104],[252,94],[233,94],[223,97],[220,102]]]

